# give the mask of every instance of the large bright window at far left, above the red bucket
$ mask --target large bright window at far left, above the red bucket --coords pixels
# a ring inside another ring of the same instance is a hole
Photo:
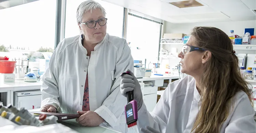
[[[29,59],[30,68],[39,68],[39,59],[51,58],[55,47],[56,0],[1,9],[0,18],[0,56],[9,56],[9,60]]]

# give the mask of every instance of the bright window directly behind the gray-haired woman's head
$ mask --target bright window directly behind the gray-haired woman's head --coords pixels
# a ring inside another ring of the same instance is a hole
[[[77,7],[85,0],[66,1],[65,38],[80,35],[76,21]],[[107,33],[122,38],[124,8],[112,3],[95,0],[106,10]]]

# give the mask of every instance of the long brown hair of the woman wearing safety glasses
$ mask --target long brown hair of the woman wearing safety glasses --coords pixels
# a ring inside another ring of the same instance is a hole
[[[191,36],[198,47],[212,53],[200,81],[201,108],[192,131],[219,133],[233,108],[232,99],[236,93],[242,90],[250,100],[252,93],[240,74],[238,57],[233,54],[233,46],[226,33],[214,27],[195,27]]]

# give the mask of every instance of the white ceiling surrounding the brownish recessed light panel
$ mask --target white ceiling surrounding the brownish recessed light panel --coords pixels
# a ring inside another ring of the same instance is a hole
[[[256,0],[196,0],[204,6],[178,8],[184,0],[103,0],[171,23],[255,20]],[[202,15],[203,13],[203,15]],[[223,13],[223,14],[222,14]],[[226,15],[224,15],[226,14]]]

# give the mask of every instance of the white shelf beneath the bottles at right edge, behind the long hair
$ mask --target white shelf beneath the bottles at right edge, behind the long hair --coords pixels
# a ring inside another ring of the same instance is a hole
[[[236,54],[256,54],[256,45],[234,44]]]

